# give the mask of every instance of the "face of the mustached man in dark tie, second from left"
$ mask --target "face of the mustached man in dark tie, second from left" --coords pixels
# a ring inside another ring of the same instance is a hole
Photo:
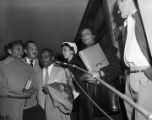
[[[25,50],[26,52],[26,56],[30,59],[35,59],[37,58],[38,55],[38,50],[37,50],[37,46],[35,43],[29,43],[27,45],[27,48]]]

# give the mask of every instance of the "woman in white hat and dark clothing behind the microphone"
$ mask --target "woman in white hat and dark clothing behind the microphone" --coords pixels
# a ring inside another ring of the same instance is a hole
[[[77,46],[75,43],[64,42],[61,45],[62,54],[65,60],[68,63],[77,65],[81,68],[84,68],[84,65],[77,55]],[[75,80],[81,85],[81,87],[87,91],[86,81],[82,81],[81,76],[83,76],[83,72],[77,70],[76,68],[69,67],[68,68],[75,77]],[[88,98],[82,93],[80,88],[74,83],[76,91],[80,93],[79,97],[74,101],[74,109],[78,110],[78,119],[79,120],[90,120],[90,112],[88,108]]]

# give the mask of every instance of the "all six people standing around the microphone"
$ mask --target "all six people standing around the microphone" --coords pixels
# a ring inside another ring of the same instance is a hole
[[[134,0],[118,0],[119,12],[126,19],[124,26],[124,63],[127,66],[126,95],[152,112],[152,68],[149,48],[141,19]],[[90,27],[81,31],[85,48],[96,44],[96,36]],[[121,73],[117,49],[100,41],[109,65],[99,71],[89,71],[92,76],[71,66],[56,62],[54,52],[44,48],[39,53],[34,41],[12,41],[7,45],[8,57],[0,61],[0,117],[2,120],[23,120],[24,110],[40,106],[46,120],[70,120],[78,102],[78,119],[93,120],[92,103],[79,85],[93,96],[94,78],[101,78],[109,84]],[[75,43],[63,42],[62,55],[65,62],[86,69],[79,58]],[[129,120],[146,120],[128,103],[125,103]],[[35,114],[34,114],[35,115]],[[36,118],[36,116],[34,116]]]

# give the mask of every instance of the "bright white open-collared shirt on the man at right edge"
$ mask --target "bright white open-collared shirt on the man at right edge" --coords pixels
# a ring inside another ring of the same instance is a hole
[[[149,66],[149,63],[140,49],[135,35],[135,20],[132,16],[127,18],[127,39],[124,50],[124,61],[128,67]]]

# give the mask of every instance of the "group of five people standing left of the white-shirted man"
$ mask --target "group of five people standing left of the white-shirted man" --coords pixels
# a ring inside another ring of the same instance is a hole
[[[82,30],[81,37],[86,47],[96,43],[95,35],[89,27]],[[86,69],[77,55],[75,43],[63,42],[61,48],[65,62]],[[108,45],[103,45],[102,48],[111,64],[101,71],[90,73],[95,77],[106,77],[107,82],[110,82],[118,77],[119,61],[114,55],[115,48],[112,50]],[[7,52],[8,57],[0,62],[1,119],[22,120],[25,119],[23,114],[26,110],[40,106],[46,120],[70,120],[75,101],[79,101],[78,119],[93,119],[91,102],[73,81],[74,78],[92,96],[95,88],[91,76],[57,64],[55,55],[49,48],[42,49],[38,57],[34,41],[27,41],[24,45],[21,40],[12,41],[7,45]],[[111,56],[113,59],[110,59]]]

